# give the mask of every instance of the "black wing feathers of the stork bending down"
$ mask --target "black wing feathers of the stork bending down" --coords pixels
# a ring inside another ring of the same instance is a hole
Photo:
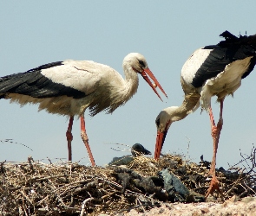
[[[216,77],[224,71],[226,65],[235,60],[243,60],[246,57],[253,56],[250,66],[242,76],[245,78],[253,71],[256,63],[256,35],[236,37],[228,31],[223,32],[220,36],[226,38],[217,45],[207,46],[203,49],[213,49],[195,73],[192,85],[194,87],[203,86],[207,79]]]

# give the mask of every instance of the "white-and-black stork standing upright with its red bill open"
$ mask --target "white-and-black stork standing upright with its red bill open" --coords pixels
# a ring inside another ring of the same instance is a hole
[[[81,118],[81,136],[90,162],[95,160],[89,148],[85,130],[84,111],[89,108],[90,115],[100,111],[112,113],[137,92],[138,73],[148,82],[159,98],[156,86],[167,96],[142,54],[128,54],[122,63],[125,79],[113,68],[91,60],[64,60],[45,64],[25,73],[16,73],[0,79],[0,98],[10,98],[20,105],[39,104],[39,111],[46,110],[69,116],[66,133],[69,161],[72,160],[71,130],[75,115]],[[147,75],[148,74],[148,75]],[[148,76],[153,79],[154,84]]]

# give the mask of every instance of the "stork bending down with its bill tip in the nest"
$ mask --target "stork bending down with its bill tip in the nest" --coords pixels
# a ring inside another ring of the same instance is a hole
[[[253,71],[256,63],[256,35],[236,37],[228,31],[217,45],[197,49],[185,62],[181,70],[181,86],[185,98],[181,106],[167,107],[159,113],[155,123],[157,138],[154,158],[158,159],[170,125],[186,118],[200,105],[210,117],[213,137],[213,160],[209,174],[213,175],[208,196],[215,189],[220,191],[215,175],[216,154],[222,129],[223,101],[226,95],[235,92],[241,79]],[[216,125],[211,108],[211,98],[216,95],[220,102],[220,119]]]

